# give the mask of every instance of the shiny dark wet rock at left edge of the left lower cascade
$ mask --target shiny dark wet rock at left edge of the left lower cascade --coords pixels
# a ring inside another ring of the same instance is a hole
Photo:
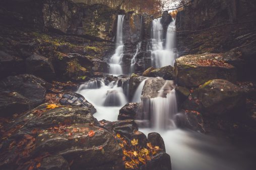
[[[94,106],[89,103],[84,96],[75,92],[68,92],[64,93],[59,100],[61,105],[71,105],[71,106],[78,106],[78,107],[86,107],[90,109],[90,112],[93,114],[96,112]]]

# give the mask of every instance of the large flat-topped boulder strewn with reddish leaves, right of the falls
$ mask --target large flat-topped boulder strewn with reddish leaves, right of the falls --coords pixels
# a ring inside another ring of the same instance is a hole
[[[176,59],[174,76],[178,85],[196,87],[209,80],[224,79],[235,82],[234,66],[222,61],[222,54],[187,55]]]

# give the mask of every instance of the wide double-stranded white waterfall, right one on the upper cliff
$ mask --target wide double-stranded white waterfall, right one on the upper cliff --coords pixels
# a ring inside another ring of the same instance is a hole
[[[152,66],[156,68],[174,65],[175,62],[175,20],[168,26],[166,42],[164,47],[163,27],[160,23],[161,18],[154,19],[152,22]]]

